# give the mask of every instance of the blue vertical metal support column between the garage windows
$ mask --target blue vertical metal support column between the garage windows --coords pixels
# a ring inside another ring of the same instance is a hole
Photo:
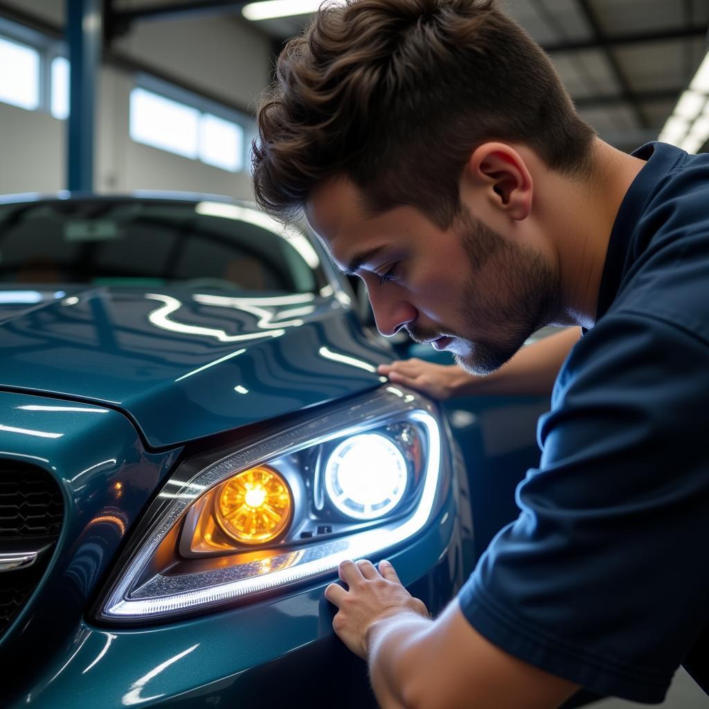
[[[101,0],[67,0],[67,45],[71,63],[67,189],[94,187],[96,87],[101,63]]]

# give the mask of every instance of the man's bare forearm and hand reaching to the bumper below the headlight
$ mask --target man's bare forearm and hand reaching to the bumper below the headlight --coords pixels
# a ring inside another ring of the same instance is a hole
[[[472,627],[457,599],[431,620],[393,566],[345,559],[330,584],[333,629],[367,659],[384,709],[554,709],[578,688],[499,649]]]

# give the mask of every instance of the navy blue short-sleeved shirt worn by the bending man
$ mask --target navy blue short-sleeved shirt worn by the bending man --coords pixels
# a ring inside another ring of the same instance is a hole
[[[709,621],[709,155],[635,155],[540,467],[459,601],[515,657],[654,703]]]

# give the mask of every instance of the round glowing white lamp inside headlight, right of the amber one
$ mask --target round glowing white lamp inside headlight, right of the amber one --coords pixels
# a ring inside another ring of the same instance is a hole
[[[395,508],[406,491],[408,466],[396,444],[363,433],[338,445],[325,467],[325,490],[342,514],[373,520]]]

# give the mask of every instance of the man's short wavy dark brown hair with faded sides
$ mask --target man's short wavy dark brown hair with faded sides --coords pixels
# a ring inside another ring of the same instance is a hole
[[[291,220],[319,184],[347,177],[372,212],[413,205],[443,228],[485,140],[523,143],[579,177],[595,135],[495,0],[324,4],[281,53],[258,126],[254,190],[272,216]]]

